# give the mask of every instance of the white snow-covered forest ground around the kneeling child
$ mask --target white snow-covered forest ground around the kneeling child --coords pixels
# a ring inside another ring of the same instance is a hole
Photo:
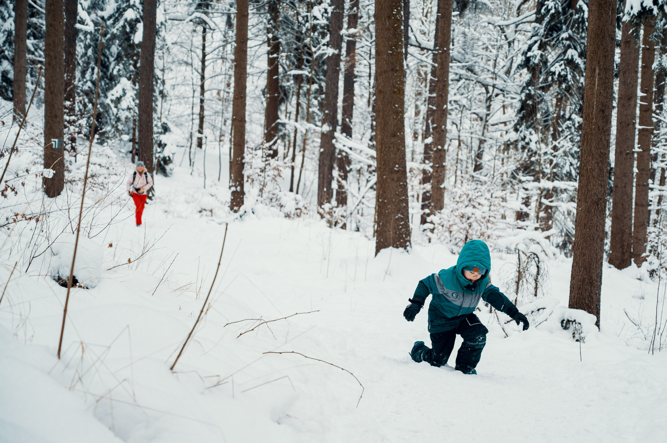
[[[658,288],[638,271],[605,265],[601,332],[581,345],[555,320],[505,324],[505,338],[480,304],[490,333],[478,376],[465,376],[412,362],[413,342],[429,343],[426,312],[402,316],[418,280],[456,254],[375,257],[358,232],[259,207],[229,223],[172,373],[225,232],[223,215],[197,212],[222,187],[202,191],[188,172],[157,177],[144,226],[130,217],[91,240],[103,272],[72,290],[61,360],[65,288],[38,265],[15,272],[0,304],[0,442],[664,442],[667,354],[649,354],[630,322],[652,327]],[[500,281],[512,258],[493,260]],[[570,266],[548,262],[563,306]],[[290,351],[303,356],[265,353]]]

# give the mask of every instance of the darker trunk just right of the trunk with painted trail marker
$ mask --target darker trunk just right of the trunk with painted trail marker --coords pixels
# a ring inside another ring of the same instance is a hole
[[[76,107],[76,75],[77,75],[77,0],[65,0],[65,145],[70,152],[77,149],[77,107]]]

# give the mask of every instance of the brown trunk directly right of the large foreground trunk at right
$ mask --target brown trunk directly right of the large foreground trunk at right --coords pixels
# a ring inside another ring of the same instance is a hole
[[[618,67],[616,111],[616,160],[612,191],[612,232],[609,264],[618,269],[632,263],[632,181],[637,121],[637,79],[639,71],[639,29],[623,22]]]

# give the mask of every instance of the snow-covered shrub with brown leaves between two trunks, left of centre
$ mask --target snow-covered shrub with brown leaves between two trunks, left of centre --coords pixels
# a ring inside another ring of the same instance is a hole
[[[302,217],[309,213],[308,205],[301,195],[284,191],[285,177],[289,178],[291,161],[269,158],[270,149],[245,151],[243,175],[246,181],[246,207],[250,201],[278,209],[288,219]],[[255,191],[255,193],[251,192]]]

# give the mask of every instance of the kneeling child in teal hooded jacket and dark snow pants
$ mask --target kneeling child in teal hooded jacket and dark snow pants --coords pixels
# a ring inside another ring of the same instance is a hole
[[[528,329],[526,316],[491,284],[490,271],[488,246],[482,240],[471,240],[461,250],[456,266],[420,280],[403,315],[412,322],[424,307],[426,297],[433,295],[428,307],[428,332],[431,333],[432,348],[424,342],[415,342],[410,352],[412,360],[429,362],[433,366],[446,364],[454,349],[456,334],[459,334],[464,341],[456,356],[456,370],[464,374],[477,374],[475,366],[480,362],[486,334],[489,332],[474,314],[480,298],[508,314],[516,324],[522,322],[524,330]]]

